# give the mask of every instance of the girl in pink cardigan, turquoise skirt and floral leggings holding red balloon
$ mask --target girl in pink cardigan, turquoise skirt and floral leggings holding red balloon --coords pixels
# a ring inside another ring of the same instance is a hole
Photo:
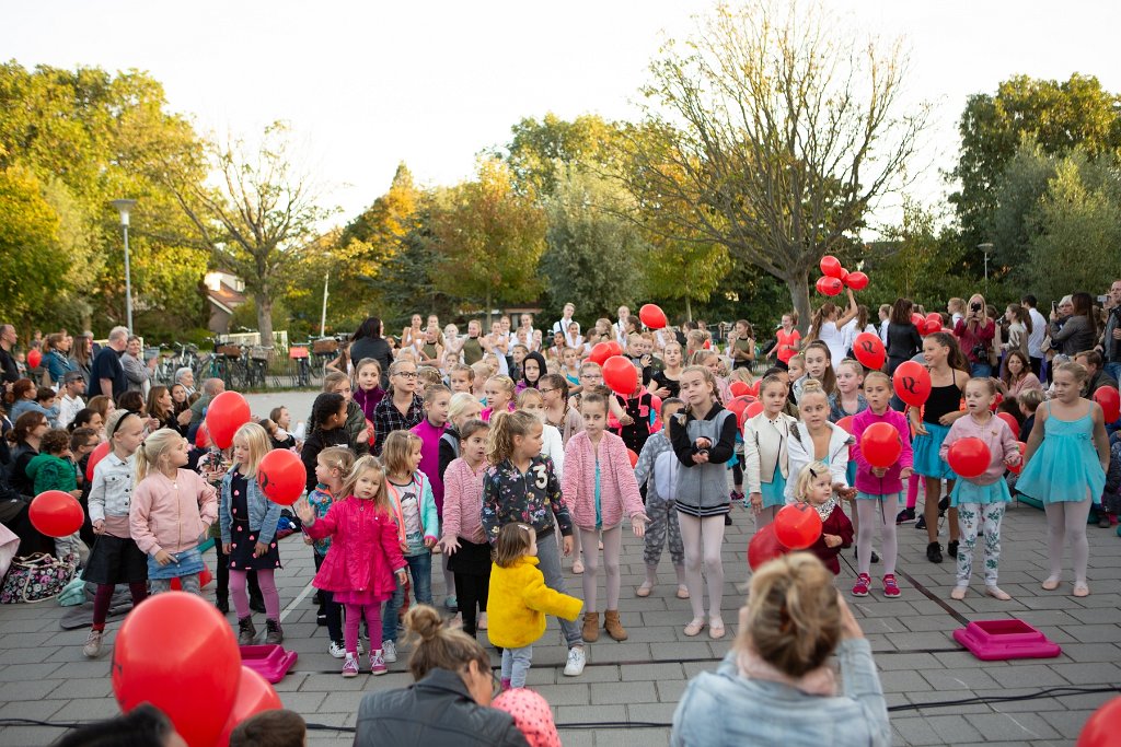
[[[952,599],[964,599],[973,572],[973,545],[979,531],[984,534],[984,588],[990,597],[1009,600],[1012,597],[997,586],[1000,566],[1000,522],[1004,506],[1012,501],[1004,482],[1004,469],[1020,464],[1020,448],[1016,436],[1000,418],[992,414],[997,396],[992,379],[970,379],[965,382],[965,418],[949,427],[938,456],[943,459],[949,447],[963,438],[979,438],[989,447],[989,466],[976,477],[963,477],[954,484],[949,505],[957,508],[964,548],[957,551],[957,585],[949,592]]]

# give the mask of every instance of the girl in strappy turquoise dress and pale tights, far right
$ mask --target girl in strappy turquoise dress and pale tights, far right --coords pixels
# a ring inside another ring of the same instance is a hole
[[[1086,519],[1091,505],[1101,501],[1110,464],[1102,408],[1078,395],[1086,379],[1086,370],[1077,363],[1064,363],[1055,370],[1051,376],[1055,396],[1036,409],[1027,466],[1016,484],[1020,493],[1043,501],[1047,512],[1050,573],[1044,589],[1058,588],[1065,536],[1071,543],[1076,597],[1090,595]]]

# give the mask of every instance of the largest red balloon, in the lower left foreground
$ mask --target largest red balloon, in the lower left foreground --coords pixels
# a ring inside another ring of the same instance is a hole
[[[191,747],[212,747],[241,682],[233,628],[202,597],[156,595],[124,618],[113,645],[112,680],[122,711],[151,703]]]

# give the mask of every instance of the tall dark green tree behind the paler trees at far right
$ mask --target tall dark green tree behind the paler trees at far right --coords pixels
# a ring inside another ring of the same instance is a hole
[[[1121,147],[1121,99],[1090,75],[1075,73],[1062,83],[1016,75],[995,94],[970,96],[958,132],[962,146],[951,176],[961,189],[949,202],[963,242],[972,246],[991,239],[997,187],[1022,137],[1045,155],[1063,156],[1076,146],[1091,158],[1112,152]]]

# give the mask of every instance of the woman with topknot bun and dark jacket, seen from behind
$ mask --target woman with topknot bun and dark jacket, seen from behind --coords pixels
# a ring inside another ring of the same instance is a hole
[[[442,625],[427,605],[409,609],[405,625],[419,641],[409,656],[416,682],[370,693],[358,711],[354,745],[396,747],[528,747],[494,697],[490,656],[478,641]]]

